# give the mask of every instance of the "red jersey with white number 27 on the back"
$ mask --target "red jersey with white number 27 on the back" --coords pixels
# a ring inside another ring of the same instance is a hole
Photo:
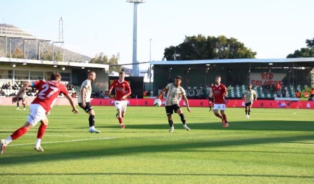
[[[38,89],[38,95],[33,100],[32,104],[41,105],[47,113],[52,108],[56,97],[60,93],[64,95],[67,95],[69,93],[65,85],[56,81],[39,80],[31,82],[31,84],[32,87]]]

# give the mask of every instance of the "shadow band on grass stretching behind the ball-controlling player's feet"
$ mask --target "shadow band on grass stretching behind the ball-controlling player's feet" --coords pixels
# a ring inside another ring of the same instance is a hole
[[[229,128],[222,128],[221,123],[188,122],[191,130],[245,130],[245,131],[314,131],[314,122],[304,121],[245,121],[230,122]],[[175,129],[183,129],[181,122],[174,124]],[[117,126],[100,126],[101,128],[116,129]],[[169,129],[168,124],[127,124],[126,129]]]

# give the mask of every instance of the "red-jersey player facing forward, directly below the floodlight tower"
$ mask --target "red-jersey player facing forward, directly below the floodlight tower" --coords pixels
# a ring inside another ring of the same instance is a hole
[[[115,88],[115,99],[114,104],[117,109],[117,118],[121,125],[121,129],[124,129],[126,126],[123,124],[123,117],[126,114],[127,105],[128,105],[128,96],[131,95],[131,87],[128,81],[124,80],[125,73],[119,73],[119,79],[113,80],[109,88],[109,96],[111,95],[111,91],[113,87]]]

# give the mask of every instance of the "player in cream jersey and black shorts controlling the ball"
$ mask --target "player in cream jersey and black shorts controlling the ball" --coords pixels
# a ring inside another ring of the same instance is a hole
[[[175,130],[172,121],[173,112],[179,114],[181,121],[183,123],[183,128],[187,131],[190,130],[190,128],[186,126],[183,111],[179,106],[180,103],[179,97],[182,95],[182,98],[184,99],[184,102],[187,106],[187,111],[191,112],[190,106],[188,105],[188,100],[186,98],[185,90],[183,89],[183,87],[181,87],[181,82],[182,82],[181,76],[176,76],[175,83],[169,83],[164,89],[161,90],[160,94],[157,96],[157,98],[161,98],[163,93],[167,91],[165,108],[168,117],[168,123],[170,125],[169,132],[173,132]]]

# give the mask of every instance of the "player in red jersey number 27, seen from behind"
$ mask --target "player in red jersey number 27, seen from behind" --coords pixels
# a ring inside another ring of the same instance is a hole
[[[14,131],[11,136],[6,139],[1,139],[0,151],[1,155],[3,154],[6,146],[12,142],[13,140],[21,137],[27,131],[29,131],[32,127],[34,127],[39,121],[41,125],[39,126],[37,132],[37,139],[35,143],[35,150],[39,152],[43,152],[44,149],[41,147],[41,139],[44,136],[46,131],[46,127],[48,125],[48,119],[46,117],[46,113],[49,112],[51,106],[53,105],[56,97],[62,93],[69,100],[72,106],[72,112],[78,113],[78,109],[75,107],[71,95],[67,91],[65,85],[60,83],[61,75],[58,73],[52,73],[51,81],[33,81],[27,82],[20,89],[18,94],[12,98],[12,102],[15,103],[18,100],[18,97],[23,93],[24,90],[28,87],[35,87],[38,89],[38,95],[34,99],[34,101],[29,106],[29,115],[27,117],[27,121],[23,127]]]

